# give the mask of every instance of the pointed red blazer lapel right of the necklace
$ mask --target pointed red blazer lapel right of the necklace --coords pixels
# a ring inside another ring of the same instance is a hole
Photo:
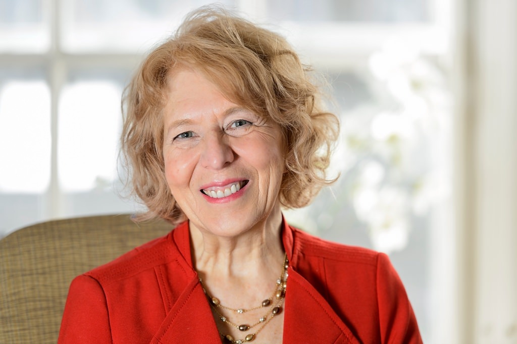
[[[323,296],[300,274],[288,269],[283,343],[359,344]]]

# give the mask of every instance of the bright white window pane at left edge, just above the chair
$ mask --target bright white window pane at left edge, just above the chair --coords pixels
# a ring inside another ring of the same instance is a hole
[[[42,80],[0,84],[0,192],[41,193],[50,181],[50,93]]]

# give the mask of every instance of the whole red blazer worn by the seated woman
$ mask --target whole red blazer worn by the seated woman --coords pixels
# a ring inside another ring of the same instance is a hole
[[[284,343],[421,343],[386,255],[284,222]],[[76,277],[58,343],[220,343],[190,258],[188,223]]]

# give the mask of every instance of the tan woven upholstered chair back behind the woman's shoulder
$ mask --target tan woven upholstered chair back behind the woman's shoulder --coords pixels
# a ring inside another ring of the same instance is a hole
[[[0,343],[56,343],[73,277],[170,231],[130,215],[49,221],[0,240]]]

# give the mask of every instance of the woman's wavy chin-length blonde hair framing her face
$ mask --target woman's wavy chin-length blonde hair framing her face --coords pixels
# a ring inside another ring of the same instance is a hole
[[[280,35],[219,7],[191,12],[177,32],[151,51],[123,97],[121,153],[128,184],[147,206],[137,220],[186,220],[165,180],[162,111],[174,68],[203,72],[226,96],[277,122],[286,143],[279,200],[284,208],[310,203],[325,185],[338,118],[321,110],[310,69]]]

